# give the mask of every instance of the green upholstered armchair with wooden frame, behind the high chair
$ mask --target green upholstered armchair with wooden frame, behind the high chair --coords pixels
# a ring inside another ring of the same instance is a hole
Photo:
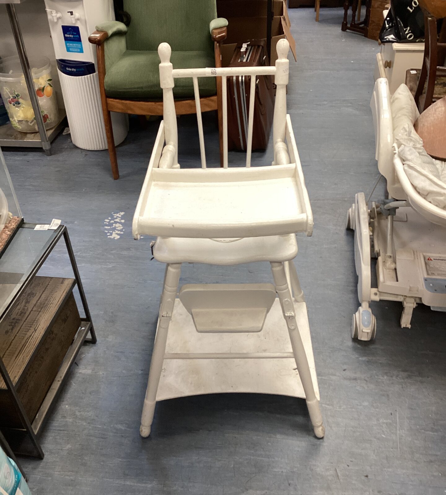
[[[110,112],[163,115],[158,46],[172,48],[174,69],[221,67],[220,44],[226,19],[217,18],[216,0],[124,0],[130,24],[108,21],[96,26],[89,41],[96,45],[98,75],[111,172],[119,178]],[[221,80],[198,79],[202,111],[218,110],[222,154]],[[176,79],[176,113],[195,113],[191,78]]]

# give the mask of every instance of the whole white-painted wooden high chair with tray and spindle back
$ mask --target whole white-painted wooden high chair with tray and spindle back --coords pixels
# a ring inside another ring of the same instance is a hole
[[[162,43],[161,122],[133,218],[133,236],[158,236],[164,290],[140,432],[150,435],[158,400],[245,392],[306,398],[314,432],[324,436],[307,307],[294,267],[295,233],[311,236],[313,216],[291,120],[286,114],[289,45],[275,67],[172,69]],[[273,165],[250,168],[256,76],[274,75]],[[198,77],[222,77],[223,168],[207,168]],[[250,77],[246,167],[227,167],[226,78]],[[172,88],[192,77],[201,169],[181,169]],[[271,263],[272,284],[189,284],[178,293],[181,263]],[[278,298],[276,297],[278,294]],[[293,297],[294,296],[294,297]],[[169,331],[170,330],[170,331]],[[169,332],[168,332],[169,331]]]

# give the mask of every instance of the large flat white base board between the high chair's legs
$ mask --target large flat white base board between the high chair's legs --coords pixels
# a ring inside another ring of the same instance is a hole
[[[294,312],[319,399],[305,302],[294,302]],[[292,356],[278,297],[266,316],[262,331],[248,334],[199,333],[191,315],[176,299],[156,398],[159,401],[235,392],[305,398]]]

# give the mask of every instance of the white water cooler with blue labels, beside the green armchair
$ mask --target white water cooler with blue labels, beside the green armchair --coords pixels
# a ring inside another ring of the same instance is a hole
[[[113,2],[45,0],[45,5],[71,140],[79,148],[107,149],[96,46],[88,42],[88,37],[97,24],[114,20]],[[111,112],[111,120],[118,145],[127,135],[128,115]]]

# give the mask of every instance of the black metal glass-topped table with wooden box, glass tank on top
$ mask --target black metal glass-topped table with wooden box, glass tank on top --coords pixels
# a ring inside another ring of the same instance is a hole
[[[0,445],[9,456],[43,458],[44,421],[80,348],[96,335],[66,226],[23,220],[1,149],[0,159]],[[73,276],[42,276],[61,238]]]

